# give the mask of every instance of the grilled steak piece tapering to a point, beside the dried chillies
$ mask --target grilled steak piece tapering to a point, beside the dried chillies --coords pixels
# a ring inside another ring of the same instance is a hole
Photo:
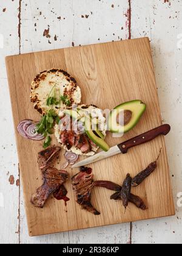
[[[94,187],[92,169],[81,167],[80,172],[72,177],[72,186],[75,192],[76,202],[84,210],[94,215],[100,215],[90,202],[92,188]]]

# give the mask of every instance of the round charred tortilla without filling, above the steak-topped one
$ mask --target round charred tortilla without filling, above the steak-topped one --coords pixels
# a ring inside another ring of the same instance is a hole
[[[30,101],[34,103],[34,108],[41,115],[47,113],[48,106],[46,104],[50,92],[53,91],[56,99],[60,96],[66,97],[70,104],[80,104],[81,90],[76,84],[76,80],[66,71],[61,69],[50,69],[39,73],[32,82]],[[53,105],[53,109],[58,114],[59,108],[67,108],[68,106],[61,101],[59,105]]]

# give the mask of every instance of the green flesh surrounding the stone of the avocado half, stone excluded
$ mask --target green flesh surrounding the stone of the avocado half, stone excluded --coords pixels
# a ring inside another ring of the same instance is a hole
[[[129,101],[118,105],[114,108],[114,110],[118,110],[117,113],[120,113],[123,110],[129,110],[133,113],[133,116],[129,123],[127,123],[125,126],[120,126],[117,123],[115,116],[113,116],[112,112],[110,112],[110,116],[108,119],[109,130],[113,133],[126,133],[129,132],[129,130],[132,130],[133,127],[135,127],[136,124],[138,124],[138,122],[141,119],[141,116],[146,110],[146,104],[144,104],[144,102],[140,100]]]

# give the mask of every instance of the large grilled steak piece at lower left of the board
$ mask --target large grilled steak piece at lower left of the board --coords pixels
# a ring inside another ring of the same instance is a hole
[[[58,190],[68,179],[66,171],[58,171],[56,168],[48,168],[43,174],[43,185],[32,195],[31,202],[36,207],[43,208],[50,194]]]

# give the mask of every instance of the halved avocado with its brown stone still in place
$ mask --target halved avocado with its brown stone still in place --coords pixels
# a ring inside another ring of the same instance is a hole
[[[146,104],[140,100],[125,102],[115,107],[110,112],[107,122],[108,130],[113,133],[126,133],[133,129],[140,121],[141,116],[146,110]],[[118,123],[118,116],[121,114],[122,124]],[[124,120],[123,120],[124,119]]]

